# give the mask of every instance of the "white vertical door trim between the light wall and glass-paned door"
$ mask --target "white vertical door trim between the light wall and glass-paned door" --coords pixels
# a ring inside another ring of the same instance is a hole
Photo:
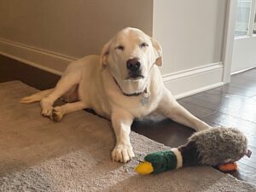
[[[235,40],[236,26],[236,5],[237,0],[228,0],[226,8],[226,19],[224,27],[224,46],[223,46],[223,62],[224,62],[224,84],[230,83],[230,73],[233,55],[233,44]]]

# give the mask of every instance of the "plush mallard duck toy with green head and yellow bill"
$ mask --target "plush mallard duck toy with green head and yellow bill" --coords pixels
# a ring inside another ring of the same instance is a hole
[[[136,172],[146,175],[166,172],[182,166],[218,166],[222,171],[236,170],[236,161],[251,151],[247,149],[247,137],[236,128],[212,128],[195,132],[188,143],[148,154],[136,167]]]

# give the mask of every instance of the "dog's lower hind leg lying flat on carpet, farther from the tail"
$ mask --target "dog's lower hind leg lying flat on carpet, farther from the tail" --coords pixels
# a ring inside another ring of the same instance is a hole
[[[82,110],[87,107],[88,106],[84,104],[84,102],[67,103],[62,106],[53,108],[50,119],[52,119],[53,121],[60,121],[64,114]]]

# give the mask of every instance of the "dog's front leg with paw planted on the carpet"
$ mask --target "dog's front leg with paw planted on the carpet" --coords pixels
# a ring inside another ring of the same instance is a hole
[[[115,148],[113,148],[112,160],[126,163],[134,157],[129,136],[133,118],[129,113],[123,110],[117,110],[113,112],[111,119],[116,137],[116,145]]]

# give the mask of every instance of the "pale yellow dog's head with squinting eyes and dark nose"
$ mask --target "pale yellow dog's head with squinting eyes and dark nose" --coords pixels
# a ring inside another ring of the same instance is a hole
[[[162,49],[154,38],[139,29],[127,27],[103,46],[101,63],[102,67],[109,68],[126,93],[136,92],[136,88],[125,88],[125,82],[143,84],[151,67],[162,65]]]

